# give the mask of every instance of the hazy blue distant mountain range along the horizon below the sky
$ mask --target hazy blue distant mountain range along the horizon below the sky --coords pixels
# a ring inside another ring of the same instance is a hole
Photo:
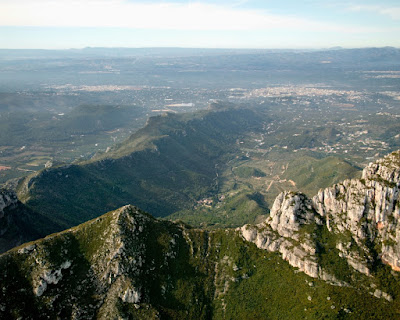
[[[399,65],[400,49],[383,48],[330,48],[320,50],[282,50],[282,49],[207,49],[207,48],[84,48],[69,50],[40,49],[0,49],[0,60],[24,59],[81,59],[84,57],[149,57],[149,58],[190,58],[203,57],[212,66],[213,59],[225,56],[231,62],[246,63],[252,61],[259,67],[278,68],[282,65],[295,67],[296,64],[317,63],[362,68],[376,63],[381,65]],[[245,57],[241,60],[240,57]],[[255,60],[256,59],[256,60]],[[203,63],[205,60],[202,61]],[[272,63],[272,65],[269,65]],[[298,65],[299,66],[299,65]],[[235,65],[235,67],[237,67]],[[240,65],[239,65],[240,67]]]

